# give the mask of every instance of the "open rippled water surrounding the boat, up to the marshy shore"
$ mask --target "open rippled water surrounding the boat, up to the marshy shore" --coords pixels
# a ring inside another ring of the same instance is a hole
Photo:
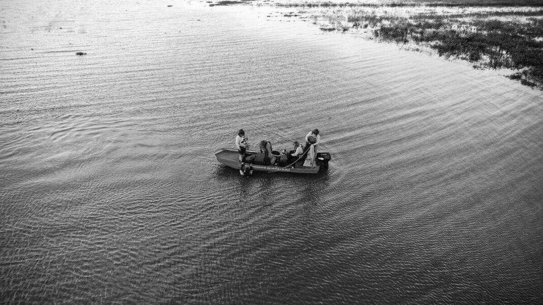
[[[2,4],[2,303],[543,300],[540,91],[206,5]],[[239,128],[330,169],[242,177]]]

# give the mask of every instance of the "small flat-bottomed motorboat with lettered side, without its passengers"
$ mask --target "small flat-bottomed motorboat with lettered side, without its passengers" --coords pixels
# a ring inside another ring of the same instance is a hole
[[[221,148],[213,154],[220,163],[233,169],[238,169],[242,175],[251,175],[252,171],[266,171],[268,173],[298,173],[298,174],[317,174],[319,171],[324,171],[328,168],[330,161],[330,153],[317,153],[314,164],[309,164],[305,158],[301,158],[293,163],[287,163],[281,158],[279,151],[272,151],[271,164],[264,164],[262,153],[260,151],[246,151],[245,162],[239,162],[239,153],[237,149]]]

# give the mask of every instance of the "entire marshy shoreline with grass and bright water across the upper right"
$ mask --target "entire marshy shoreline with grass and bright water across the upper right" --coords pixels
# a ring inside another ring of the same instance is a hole
[[[508,71],[505,77],[543,90],[543,3],[533,0],[207,3],[292,9],[282,17],[310,21],[321,31],[465,61],[475,69]]]

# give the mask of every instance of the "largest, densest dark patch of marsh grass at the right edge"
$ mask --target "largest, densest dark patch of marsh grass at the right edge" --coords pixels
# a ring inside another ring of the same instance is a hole
[[[543,12],[541,13],[543,15]],[[460,21],[462,16],[418,15],[398,18],[378,26],[376,36],[397,43],[410,41],[435,49],[440,56],[476,63],[475,67],[508,68],[522,70],[513,79],[522,84],[543,84],[543,22],[528,18],[526,22],[501,21],[493,18],[472,18]]]

